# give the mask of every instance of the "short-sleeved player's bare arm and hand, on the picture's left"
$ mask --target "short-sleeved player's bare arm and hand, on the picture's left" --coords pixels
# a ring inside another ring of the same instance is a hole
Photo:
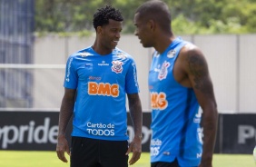
[[[57,139],[56,152],[58,158],[63,162],[68,162],[64,156],[64,152],[70,154],[68,142],[65,138],[65,130],[67,124],[72,116],[74,109],[75,90],[66,89],[64,90],[64,97],[61,104],[59,114],[59,133]]]

